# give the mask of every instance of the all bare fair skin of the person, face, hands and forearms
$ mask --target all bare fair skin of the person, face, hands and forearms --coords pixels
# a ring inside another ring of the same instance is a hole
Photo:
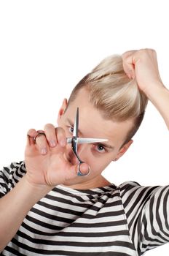
[[[126,74],[137,80],[139,89],[144,91],[152,101],[169,129],[169,91],[160,78],[155,51],[152,49],[131,50],[124,53],[122,58]],[[111,120],[104,120],[101,114],[87,102],[87,91],[83,91],[83,97],[78,95],[64,114],[66,104],[65,99],[58,114],[59,127],[56,128],[52,124],[45,125],[45,136],[39,136],[36,144],[32,138],[27,138],[25,147],[27,173],[11,192],[0,199],[0,251],[15,236],[31,207],[56,185],[63,184],[76,189],[89,189],[109,184],[109,181],[101,175],[103,169],[115,158],[122,157],[132,143],[130,140],[119,149],[131,122],[115,123]],[[91,173],[86,177],[76,176],[76,158],[70,145],[66,145],[66,137],[70,137],[72,132],[67,119],[69,118],[74,123],[77,107],[79,107],[81,135],[91,138],[108,138],[107,143],[114,146],[114,150],[109,152],[103,151],[101,146],[95,144],[79,146],[79,156],[85,162],[82,165],[82,173],[86,173],[88,165],[91,167]],[[28,131],[31,137],[36,134],[35,129]],[[50,146],[50,140],[55,140],[56,146]],[[46,154],[41,151],[45,147],[47,148]]]

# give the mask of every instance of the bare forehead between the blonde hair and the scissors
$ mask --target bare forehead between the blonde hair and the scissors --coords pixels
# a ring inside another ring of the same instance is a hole
[[[72,124],[74,124],[76,108],[79,108],[79,130],[85,137],[107,138],[118,146],[123,143],[132,127],[131,121],[114,122],[103,118],[101,111],[90,103],[89,93],[86,90],[80,90],[66,110],[64,116],[71,120]]]

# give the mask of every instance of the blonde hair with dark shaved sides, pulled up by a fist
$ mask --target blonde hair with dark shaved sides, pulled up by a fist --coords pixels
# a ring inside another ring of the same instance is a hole
[[[104,118],[119,122],[133,119],[133,127],[127,133],[123,146],[138,130],[148,99],[144,92],[138,89],[136,80],[129,79],[125,74],[122,56],[113,55],[103,59],[74,87],[68,104],[83,87],[90,92],[90,102],[101,110]]]

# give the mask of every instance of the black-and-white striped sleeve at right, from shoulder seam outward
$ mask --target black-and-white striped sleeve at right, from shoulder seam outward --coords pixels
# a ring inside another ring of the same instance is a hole
[[[130,238],[138,255],[144,255],[169,242],[169,186],[138,185],[123,191],[122,202]]]

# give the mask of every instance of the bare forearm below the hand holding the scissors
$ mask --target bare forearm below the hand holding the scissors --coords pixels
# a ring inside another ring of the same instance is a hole
[[[49,191],[50,188],[45,186],[29,184],[24,176],[11,192],[0,199],[0,252],[15,236],[28,211]]]

